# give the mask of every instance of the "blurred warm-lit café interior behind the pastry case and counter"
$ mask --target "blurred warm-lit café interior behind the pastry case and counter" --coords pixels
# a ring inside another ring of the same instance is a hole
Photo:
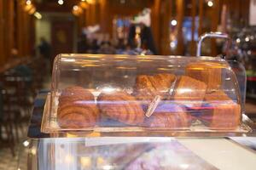
[[[201,54],[228,51],[246,68],[246,111],[253,118],[255,0],[0,0],[0,156],[16,156],[34,99],[50,88],[56,54],[195,56],[199,37],[209,31],[229,34],[230,48],[207,39]],[[11,167],[4,160],[0,169]]]

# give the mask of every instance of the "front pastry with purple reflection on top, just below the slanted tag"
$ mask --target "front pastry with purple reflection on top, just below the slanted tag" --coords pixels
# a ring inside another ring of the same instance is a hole
[[[172,103],[161,103],[145,123],[146,127],[189,127],[190,118],[186,110]]]

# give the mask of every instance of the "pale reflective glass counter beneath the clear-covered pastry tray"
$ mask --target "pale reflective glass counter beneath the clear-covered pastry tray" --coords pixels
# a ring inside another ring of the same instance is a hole
[[[31,139],[27,169],[255,169],[255,150],[241,145],[248,141],[255,146],[244,137]]]

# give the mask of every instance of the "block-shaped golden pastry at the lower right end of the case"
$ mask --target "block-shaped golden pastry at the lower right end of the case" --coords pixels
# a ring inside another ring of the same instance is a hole
[[[235,129],[241,120],[241,105],[219,90],[206,94],[207,110],[200,116],[211,129]]]

